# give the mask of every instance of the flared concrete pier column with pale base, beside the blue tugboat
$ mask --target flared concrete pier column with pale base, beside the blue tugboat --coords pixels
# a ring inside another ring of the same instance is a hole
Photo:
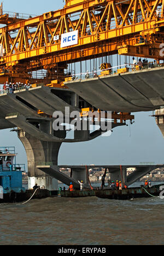
[[[58,181],[40,171],[36,166],[45,162],[57,165],[58,152],[62,143],[41,141],[22,130],[19,130],[18,137],[24,145],[27,154],[28,189],[32,189],[37,183],[40,188],[45,186],[45,189],[57,190]]]

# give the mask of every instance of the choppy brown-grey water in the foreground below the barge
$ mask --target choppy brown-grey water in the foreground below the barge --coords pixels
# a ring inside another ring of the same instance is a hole
[[[0,205],[0,245],[163,245],[164,200],[51,197]]]

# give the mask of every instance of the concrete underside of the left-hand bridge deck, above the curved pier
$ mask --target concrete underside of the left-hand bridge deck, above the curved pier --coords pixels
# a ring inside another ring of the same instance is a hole
[[[25,117],[36,118],[39,117],[38,110],[42,110],[48,115],[53,115],[56,110],[65,113],[65,107],[70,107],[71,112],[79,110],[57,96],[60,93],[61,95],[65,94],[65,91],[66,89],[38,86],[29,90],[15,91],[14,94],[0,95],[0,130],[17,126],[5,119],[11,113],[19,113]],[[71,94],[71,91],[68,89],[66,94]]]

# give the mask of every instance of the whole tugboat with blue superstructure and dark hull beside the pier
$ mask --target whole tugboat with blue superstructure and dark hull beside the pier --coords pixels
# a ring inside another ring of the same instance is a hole
[[[25,164],[16,164],[15,147],[0,147],[0,203],[22,202],[31,199],[42,199],[50,196],[50,191],[33,190],[22,187],[22,172]]]

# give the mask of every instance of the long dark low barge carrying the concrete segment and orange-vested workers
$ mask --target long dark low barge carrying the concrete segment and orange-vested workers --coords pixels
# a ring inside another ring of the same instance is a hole
[[[102,189],[102,190],[75,190],[75,191],[61,191],[61,197],[87,197],[97,196],[102,199],[115,199],[115,200],[130,200],[140,197],[159,196],[161,193],[161,185],[155,185],[151,188],[128,188],[122,190]]]

